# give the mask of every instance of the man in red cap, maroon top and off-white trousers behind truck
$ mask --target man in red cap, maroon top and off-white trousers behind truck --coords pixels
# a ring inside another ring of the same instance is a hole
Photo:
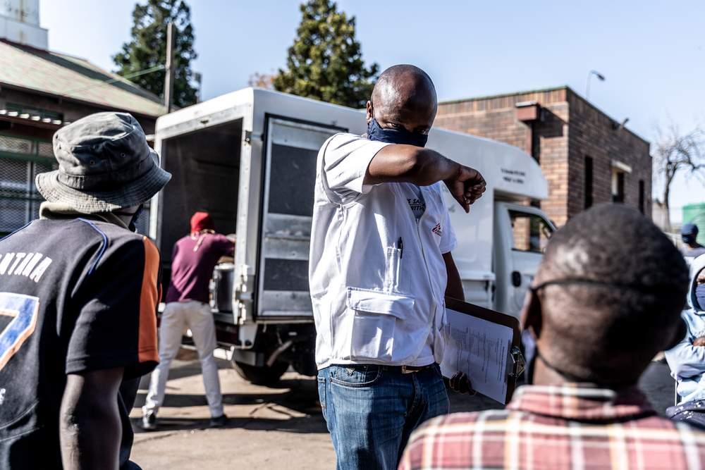
[[[198,350],[203,371],[203,385],[211,412],[211,426],[226,424],[218,366],[213,351],[216,330],[208,303],[208,283],[221,256],[231,255],[235,244],[215,232],[207,212],[191,217],[191,233],[176,242],[171,256],[171,283],[166,292],[166,308],[159,326],[159,366],[152,373],[147,401],[142,407],[142,427],[157,428],[157,412],[164,402],[169,364],[181,345],[181,335],[188,327]]]

